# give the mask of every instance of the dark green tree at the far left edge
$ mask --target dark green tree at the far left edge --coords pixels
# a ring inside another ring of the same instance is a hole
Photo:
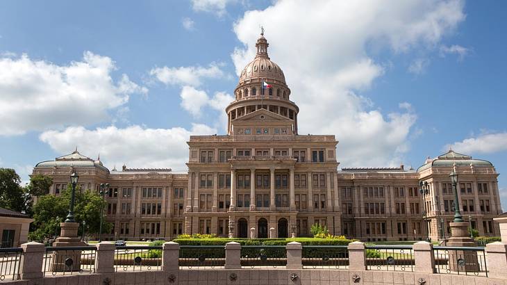
[[[11,168],[0,168],[0,206],[14,211],[25,212],[27,208],[26,193],[21,178]]]

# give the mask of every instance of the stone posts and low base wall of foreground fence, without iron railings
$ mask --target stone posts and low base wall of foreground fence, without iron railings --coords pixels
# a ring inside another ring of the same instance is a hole
[[[183,246],[182,246],[183,247]],[[198,247],[196,247],[199,250]],[[395,247],[392,247],[393,249]],[[415,243],[410,249],[410,270],[390,271],[379,266],[368,267],[368,248],[364,243],[350,243],[347,252],[348,268],[304,268],[304,246],[288,243],[285,247],[285,266],[242,266],[242,246],[227,243],[224,266],[196,268],[181,266],[181,248],[168,242],[161,247],[158,270],[126,272],[115,266],[117,247],[113,243],[96,245],[94,272],[44,275],[44,245],[25,243],[19,263],[19,280],[1,284],[498,284],[507,285],[507,244],[490,243],[485,247],[488,277],[438,274],[435,270],[435,250],[431,243]],[[325,250],[325,248],[324,248]],[[396,256],[397,252],[394,253]],[[384,258],[384,257],[383,257]],[[390,257],[388,257],[389,259]],[[449,259],[450,261],[450,259]],[[389,263],[389,260],[387,261]]]

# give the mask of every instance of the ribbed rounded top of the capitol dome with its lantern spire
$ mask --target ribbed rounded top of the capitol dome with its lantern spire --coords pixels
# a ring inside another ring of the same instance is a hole
[[[239,82],[240,85],[249,79],[266,79],[267,81],[271,81],[270,83],[281,83],[286,85],[283,70],[279,65],[272,62],[267,55],[268,46],[269,44],[266,38],[264,38],[263,33],[261,33],[260,38],[258,38],[256,42],[256,57],[242,70]]]

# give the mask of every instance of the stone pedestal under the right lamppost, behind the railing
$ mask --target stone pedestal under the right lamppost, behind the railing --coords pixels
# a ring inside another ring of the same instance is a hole
[[[451,238],[447,242],[449,247],[476,247],[475,241],[470,238],[468,222],[451,222]],[[457,272],[478,272],[479,260],[477,252],[471,250],[449,250],[449,268]]]

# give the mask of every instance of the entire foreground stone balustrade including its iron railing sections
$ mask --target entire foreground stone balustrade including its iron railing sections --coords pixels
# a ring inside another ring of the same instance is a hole
[[[141,247],[136,247],[140,250],[139,254],[130,256],[129,247],[115,247],[107,242],[99,243],[94,248],[94,259],[89,261],[94,265],[92,272],[80,274],[80,270],[72,270],[60,274],[58,270],[53,270],[53,274],[44,275],[44,263],[48,262],[48,257],[44,256],[44,245],[25,243],[18,261],[19,280],[5,280],[2,283],[507,284],[504,283],[507,282],[507,245],[500,242],[490,243],[482,249],[485,253],[483,267],[476,265],[477,257],[470,259],[463,254],[465,250],[480,251],[479,247],[449,247],[447,262],[451,264],[456,261],[456,264],[447,272],[440,273],[451,274],[439,274],[437,270],[438,263],[442,262],[437,251],[446,249],[433,249],[431,243],[424,241],[413,246],[365,246],[364,243],[354,242],[348,246],[322,248],[296,242],[288,243],[285,247],[242,247],[235,242],[225,246],[200,247],[168,242],[162,247],[150,247],[158,251],[157,257],[151,257],[149,251],[143,251]],[[456,251],[455,255],[452,250]],[[459,254],[463,254],[463,257],[460,258]],[[125,260],[122,261],[119,256]],[[152,259],[153,264],[142,263],[143,259]],[[128,266],[133,266],[133,270],[129,270]],[[460,275],[459,269],[456,269],[458,266],[468,268],[468,272],[461,271]],[[475,274],[482,271],[488,277]]]

